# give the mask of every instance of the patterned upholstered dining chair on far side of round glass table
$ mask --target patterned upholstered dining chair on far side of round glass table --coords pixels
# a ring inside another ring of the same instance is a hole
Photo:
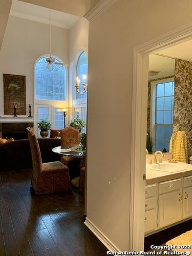
[[[79,145],[80,134],[74,127],[66,127],[61,130],[61,146],[69,148]],[[69,168],[70,180],[78,177],[80,174],[79,164],[81,162],[81,157],[76,156],[62,156],[61,162]]]

